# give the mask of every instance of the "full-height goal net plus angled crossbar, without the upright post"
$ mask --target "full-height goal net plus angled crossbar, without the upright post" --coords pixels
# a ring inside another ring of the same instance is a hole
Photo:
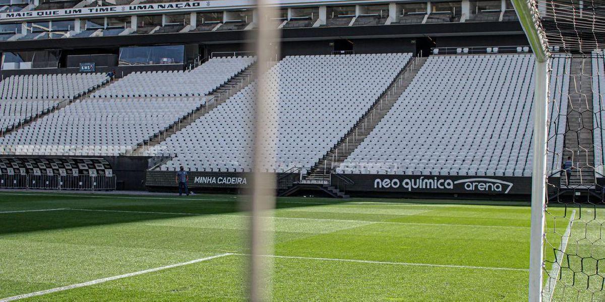
[[[525,4],[528,39],[551,59],[542,297],[604,301],[605,1]]]

